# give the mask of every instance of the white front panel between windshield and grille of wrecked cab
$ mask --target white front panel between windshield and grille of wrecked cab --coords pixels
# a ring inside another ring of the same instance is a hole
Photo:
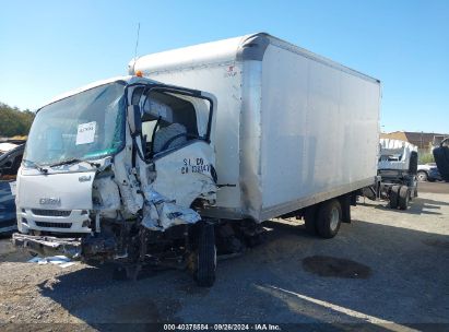
[[[95,170],[17,177],[16,204],[49,210],[92,209]]]

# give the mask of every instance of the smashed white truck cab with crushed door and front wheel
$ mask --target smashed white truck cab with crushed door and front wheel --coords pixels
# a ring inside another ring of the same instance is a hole
[[[15,245],[134,275],[189,266],[211,284],[213,226],[200,213],[216,201],[215,107],[210,94],[138,76],[43,107],[17,176]]]

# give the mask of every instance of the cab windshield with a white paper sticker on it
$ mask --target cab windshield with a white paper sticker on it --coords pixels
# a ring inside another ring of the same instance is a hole
[[[43,107],[29,131],[25,166],[95,159],[125,144],[125,85],[101,85]]]

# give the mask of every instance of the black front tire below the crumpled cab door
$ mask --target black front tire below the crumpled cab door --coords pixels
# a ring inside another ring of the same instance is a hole
[[[200,287],[212,287],[215,282],[216,247],[214,225],[201,222],[198,238],[194,280]]]

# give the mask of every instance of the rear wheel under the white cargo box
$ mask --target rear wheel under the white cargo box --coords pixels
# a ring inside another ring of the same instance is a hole
[[[317,230],[323,238],[334,237],[342,223],[342,206],[339,200],[322,202],[318,209]]]

